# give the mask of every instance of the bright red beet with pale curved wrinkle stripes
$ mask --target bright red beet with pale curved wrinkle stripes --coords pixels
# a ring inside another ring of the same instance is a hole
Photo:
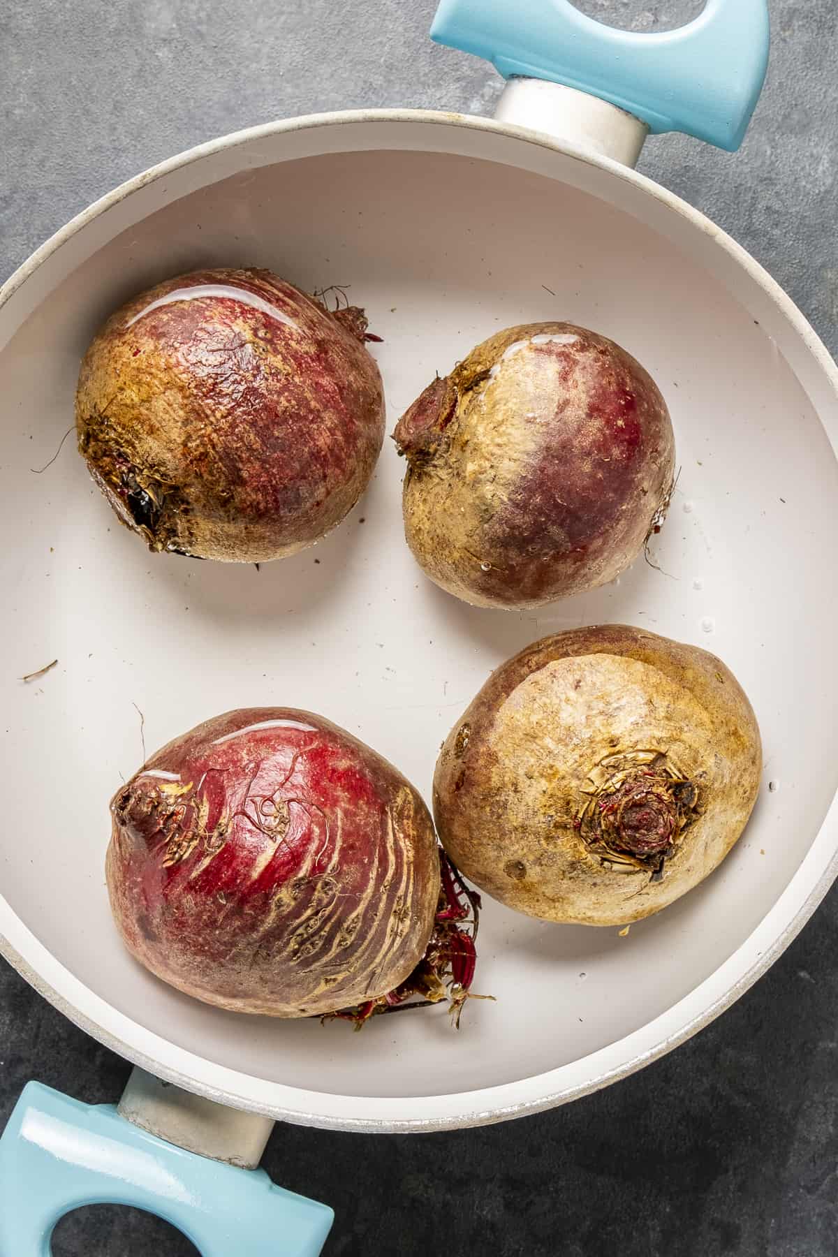
[[[254,708],[207,720],[152,755],[111,815],[122,938],[187,994],[327,1013],[392,991],[425,954],[440,894],[427,808],[322,716]]]

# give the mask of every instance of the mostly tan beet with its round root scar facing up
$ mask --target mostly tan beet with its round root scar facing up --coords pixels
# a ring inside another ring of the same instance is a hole
[[[761,744],[714,655],[622,625],[501,665],[436,766],[440,840],[464,875],[552,921],[623,925],[696,886],[756,801]]]

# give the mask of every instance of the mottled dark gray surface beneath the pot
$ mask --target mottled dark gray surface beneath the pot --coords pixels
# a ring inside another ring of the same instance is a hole
[[[667,136],[650,141],[642,168],[755,254],[835,352],[838,5],[769,3],[771,69],[743,151]],[[652,30],[701,3],[579,8]],[[0,279],[116,184],[222,132],[348,106],[490,112],[498,77],[430,44],[433,9],[0,0]],[[0,963],[0,1124],[30,1077],[101,1101],[127,1072]],[[328,1257],[834,1257],[837,1119],[833,892],[721,1021],[609,1091],[449,1135],[278,1126],[264,1165],[334,1207]],[[156,1219],[116,1209],[65,1219],[54,1241],[57,1257],[190,1252]]]

